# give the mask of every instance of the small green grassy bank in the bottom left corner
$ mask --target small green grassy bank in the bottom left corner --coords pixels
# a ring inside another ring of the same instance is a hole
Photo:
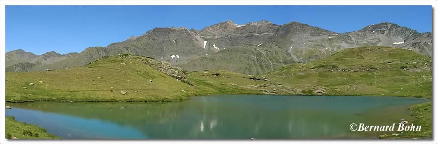
[[[44,128],[17,122],[14,117],[6,117],[6,139],[59,139],[47,133]]]

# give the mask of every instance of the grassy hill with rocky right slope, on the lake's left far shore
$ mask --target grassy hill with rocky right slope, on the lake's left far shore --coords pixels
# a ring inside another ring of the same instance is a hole
[[[189,84],[195,82],[199,84],[194,84],[195,86]],[[123,95],[121,91],[127,94]],[[194,82],[191,82],[186,78],[185,72],[169,63],[125,54],[104,57],[86,67],[37,72],[6,72],[6,101],[9,102],[161,102],[180,101],[187,96],[207,94],[256,94],[256,92],[240,87],[232,89],[222,83],[209,84],[205,80],[194,79]]]

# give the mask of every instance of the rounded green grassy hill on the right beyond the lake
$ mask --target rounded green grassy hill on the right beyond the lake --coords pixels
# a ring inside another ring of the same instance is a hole
[[[265,77],[309,95],[432,96],[428,56],[388,47],[350,48],[308,63],[295,63]]]

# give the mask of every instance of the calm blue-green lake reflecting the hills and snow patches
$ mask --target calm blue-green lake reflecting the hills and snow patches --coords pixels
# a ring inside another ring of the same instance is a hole
[[[377,96],[197,96],[183,102],[6,103],[6,116],[64,139],[373,138],[351,123],[412,120],[422,98]]]

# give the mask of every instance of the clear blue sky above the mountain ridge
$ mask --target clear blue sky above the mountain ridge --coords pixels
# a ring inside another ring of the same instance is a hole
[[[431,14],[431,6],[6,6],[6,51],[82,52],[155,27],[200,30],[226,20],[297,21],[339,33],[387,21],[431,32]]]

